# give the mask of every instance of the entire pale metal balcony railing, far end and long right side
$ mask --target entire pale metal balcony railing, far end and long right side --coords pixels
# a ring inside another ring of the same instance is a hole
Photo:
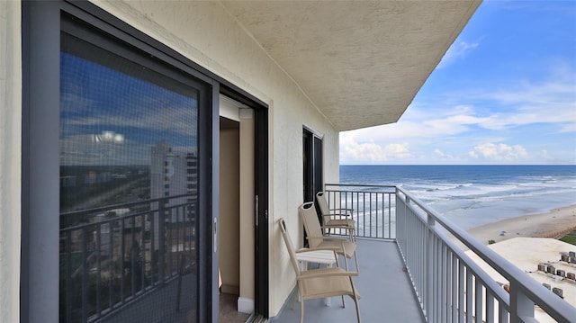
[[[535,306],[576,322],[572,305],[401,187],[326,184],[325,192],[330,208],[354,209],[358,237],[396,239],[428,322],[538,322]],[[507,279],[509,292],[459,243]]]

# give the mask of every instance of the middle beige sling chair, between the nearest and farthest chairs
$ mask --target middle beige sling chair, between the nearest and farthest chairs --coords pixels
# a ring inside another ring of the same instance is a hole
[[[322,227],[320,227],[320,220],[314,207],[314,202],[305,202],[298,207],[298,213],[304,222],[304,229],[306,230],[306,238],[311,248],[335,248],[338,255],[345,256],[346,270],[348,270],[347,259],[352,258],[356,260],[356,272],[359,271],[358,256],[356,255],[356,243],[348,241],[347,238],[327,237],[322,235]]]

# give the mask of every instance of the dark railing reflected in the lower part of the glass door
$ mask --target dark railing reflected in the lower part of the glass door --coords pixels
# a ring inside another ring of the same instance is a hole
[[[60,321],[100,320],[182,279],[195,205],[183,194],[61,214]]]

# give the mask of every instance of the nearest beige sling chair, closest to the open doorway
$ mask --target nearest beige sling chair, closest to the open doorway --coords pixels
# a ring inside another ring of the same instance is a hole
[[[350,296],[356,303],[356,317],[358,323],[360,323],[360,308],[358,307],[358,300],[360,296],[354,287],[354,282],[352,277],[356,276],[356,272],[348,272],[340,267],[334,268],[320,268],[311,269],[306,271],[301,271],[298,265],[298,260],[296,259],[296,254],[311,252],[319,250],[318,248],[311,249],[301,249],[295,252],[293,249],[293,244],[288,232],[286,231],[286,223],[284,219],[278,221],[280,226],[280,232],[282,232],[282,238],[284,239],[284,244],[288,249],[288,254],[290,254],[290,261],[293,265],[294,272],[296,273],[296,287],[300,301],[300,322],[304,321],[304,301],[321,299],[332,296],[342,296],[342,307],[346,307],[344,301],[344,296]],[[333,248],[331,248],[334,250]],[[327,250],[327,248],[320,248],[320,250]],[[335,261],[338,265],[338,256],[334,254]],[[294,297],[298,297],[294,295]]]

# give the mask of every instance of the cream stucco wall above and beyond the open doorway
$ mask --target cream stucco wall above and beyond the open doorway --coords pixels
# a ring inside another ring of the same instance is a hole
[[[338,181],[338,133],[291,77],[218,2],[95,1],[104,10],[228,79],[269,104],[270,315],[293,288],[288,255],[277,229],[286,218],[302,241],[302,125],[324,136],[324,179]]]

